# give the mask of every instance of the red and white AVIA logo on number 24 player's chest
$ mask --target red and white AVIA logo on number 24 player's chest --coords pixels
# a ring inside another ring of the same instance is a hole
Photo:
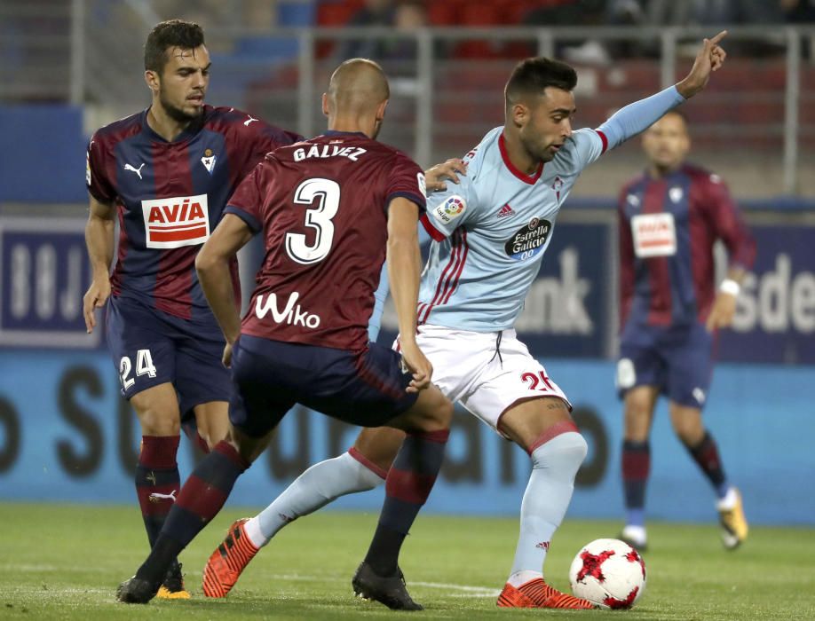
[[[210,238],[207,195],[142,200],[147,248],[197,246]]]

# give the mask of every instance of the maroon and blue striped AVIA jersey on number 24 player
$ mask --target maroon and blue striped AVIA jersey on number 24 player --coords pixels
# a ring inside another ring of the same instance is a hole
[[[226,107],[204,106],[172,142],[146,119],[145,110],[113,122],[88,145],[88,191],[118,211],[112,291],[180,318],[211,318],[195,255],[243,177],[300,137]],[[236,264],[233,281],[237,296]]]

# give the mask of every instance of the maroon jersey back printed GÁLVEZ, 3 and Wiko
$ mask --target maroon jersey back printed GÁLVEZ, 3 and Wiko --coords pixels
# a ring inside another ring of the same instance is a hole
[[[365,350],[396,197],[424,213],[422,169],[361,133],[328,131],[266,155],[226,208],[265,243],[241,334]]]

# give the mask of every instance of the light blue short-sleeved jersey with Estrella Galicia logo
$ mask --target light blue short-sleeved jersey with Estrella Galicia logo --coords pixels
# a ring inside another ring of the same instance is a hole
[[[561,205],[604,153],[602,131],[575,130],[534,176],[516,169],[502,127],[464,157],[459,185],[427,200],[432,244],[419,292],[419,324],[474,332],[512,327],[541,268]]]

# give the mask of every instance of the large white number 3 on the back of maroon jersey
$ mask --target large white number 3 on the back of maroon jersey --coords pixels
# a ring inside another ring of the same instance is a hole
[[[294,201],[297,205],[309,205],[305,210],[305,225],[315,232],[314,243],[309,246],[303,233],[286,233],[286,253],[303,265],[319,263],[331,249],[334,241],[334,223],[339,208],[340,188],[331,179],[306,179],[295,190]]]

